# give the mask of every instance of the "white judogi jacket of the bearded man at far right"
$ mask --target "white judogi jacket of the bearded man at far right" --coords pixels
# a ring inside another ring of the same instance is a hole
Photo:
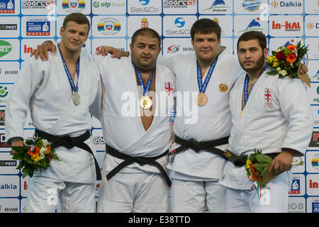
[[[281,148],[291,148],[304,155],[313,131],[306,84],[300,79],[268,75],[269,70],[254,84],[242,118],[245,77],[238,79],[230,92],[233,128],[228,149],[236,155],[249,155],[254,148],[262,149],[264,154],[281,153]],[[235,189],[252,187],[245,167],[235,167],[232,162],[225,165],[220,182]]]

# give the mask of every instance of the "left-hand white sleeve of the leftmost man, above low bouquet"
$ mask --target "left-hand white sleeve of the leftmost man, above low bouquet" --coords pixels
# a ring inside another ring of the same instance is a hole
[[[43,80],[44,70],[42,69],[46,64],[32,57],[23,64],[18,72],[16,84],[9,94],[9,102],[6,106],[6,143],[13,137],[24,138],[23,126],[28,114],[29,102],[35,89]]]

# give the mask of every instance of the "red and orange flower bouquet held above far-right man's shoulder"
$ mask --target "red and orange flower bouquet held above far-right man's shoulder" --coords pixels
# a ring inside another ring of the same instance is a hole
[[[301,46],[299,41],[297,45],[286,43],[276,51],[272,51],[267,59],[267,65],[273,70],[267,72],[270,75],[279,74],[279,78],[289,76],[290,78],[296,78],[303,80],[310,87],[310,79],[308,74],[300,74],[301,60],[307,55],[308,46]]]

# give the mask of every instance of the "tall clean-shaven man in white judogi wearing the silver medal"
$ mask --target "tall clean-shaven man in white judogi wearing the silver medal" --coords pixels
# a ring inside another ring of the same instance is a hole
[[[14,138],[11,145],[22,145],[30,109],[35,133],[47,138],[60,158],[30,178],[28,212],[54,212],[58,199],[62,212],[94,212],[101,172],[90,130],[91,114],[99,118],[101,109],[101,80],[96,65],[81,54],[89,27],[82,13],[67,16],[60,50],[50,53],[47,62],[30,58],[24,63],[6,106],[7,143]],[[74,99],[74,93],[80,99]]]

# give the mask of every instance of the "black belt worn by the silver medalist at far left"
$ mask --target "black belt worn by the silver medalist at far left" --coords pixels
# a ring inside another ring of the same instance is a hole
[[[90,138],[90,136],[91,136],[89,131],[86,131],[86,133],[79,135],[77,137],[70,137],[69,135],[65,135],[65,136],[51,135],[50,133],[45,133],[45,132],[40,131],[38,129],[35,129],[35,133],[38,136],[45,138],[50,143],[52,143],[51,148],[57,148],[57,147],[63,146],[65,148],[71,149],[74,147],[78,147],[78,148],[82,148],[83,150],[86,150],[87,152],[89,152],[94,157],[96,179],[97,180],[102,179],[99,163],[97,162],[97,160],[94,156],[94,153],[92,152],[89,145],[84,143],[84,141],[87,140],[88,138]]]

